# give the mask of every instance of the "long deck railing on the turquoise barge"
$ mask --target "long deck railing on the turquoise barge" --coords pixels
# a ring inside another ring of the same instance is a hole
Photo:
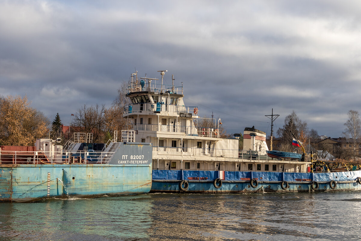
[[[0,164],[104,164],[114,152],[102,151],[0,151]]]

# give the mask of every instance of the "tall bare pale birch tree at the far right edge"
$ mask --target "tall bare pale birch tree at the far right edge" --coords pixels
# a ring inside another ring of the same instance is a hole
[[[358,145],[360,145],[361,137],[361,121],[358,111],[349,110],[348,120],[344,124],[346,126],[345,131],[342,133],[346,137],[346,141],[353,147],[353,158],[357,158]]]

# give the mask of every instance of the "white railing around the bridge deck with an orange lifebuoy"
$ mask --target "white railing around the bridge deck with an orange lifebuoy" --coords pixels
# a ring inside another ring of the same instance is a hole
[[[130,103],[123,106],[123,111],[125,114],[129,113],[143,113],[144,111],[166,111],[166,112],[174,112],[177,114],[188,114],[189,116],[196,115],[198,113],[196,111],[198,107],[196,106],[177,106],[174,104],[164,104],[164,103]],[[192,115],[189,115],[192,114]]]

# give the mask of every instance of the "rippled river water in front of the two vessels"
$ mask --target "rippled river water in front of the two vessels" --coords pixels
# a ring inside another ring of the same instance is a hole
[[[361,240],[361,192],[0,203],[0,240]]]

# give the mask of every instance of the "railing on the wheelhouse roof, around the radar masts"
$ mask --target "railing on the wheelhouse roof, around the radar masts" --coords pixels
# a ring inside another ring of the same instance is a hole
[[[156,83],[156,79],[152,79],[152,81],[153,83],[144,83],[143,86],[140,84],[140,81],[138,81],[138,84],[136,82],[130,83],[127,94],[131,92],[148,91],[154,94],[169,93],[183,95],[183,86],[162,85],[161,83]]]

